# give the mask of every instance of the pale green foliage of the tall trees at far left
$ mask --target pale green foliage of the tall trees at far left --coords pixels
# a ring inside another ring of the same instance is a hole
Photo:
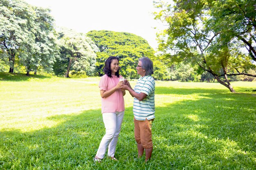
[[[27,74],[38,66],[52,70],[56,57],[54,19],[49,9],[32,7],[23,0],[0,4],[0,59],[14,71],[18,60]]]

